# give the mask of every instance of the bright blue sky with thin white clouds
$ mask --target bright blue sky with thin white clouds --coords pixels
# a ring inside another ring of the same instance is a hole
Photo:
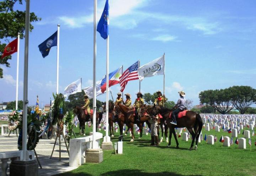
[[[254,0],[109,0],[110,72],[123,71],[140,60],[144,65],[165,53],[165,95],[177,101],[178,91],[199,104],[198,94],[233,85],[256,89],[256,1]],[[97,1],[97,22],[105,0]],[[25,10],[16,4],[15,10]],[[59,92],[82,78],[82,88],[93,79],[93,0],[31,0],[30,11],[42,20],[33,22],[29,35],[29,106],[49,104],[56,92],[57,47],[43,58],[38,45],[60,24]],[[96,81],[106,74],[106,40],[97,32]],[[23,100],[25,39],[20,40],[18,100]],[[17,53],[0,79],[0,102],[16,97]],[[164,89],[164,76],[145,78],[141,92]],[[114,100],[120,85],[111,87]],[[135,101],[139,80],[129,81],[124,93]],[[111,96],[110,96],[111,98]],[[97,97],[106,101],[106,94]]]

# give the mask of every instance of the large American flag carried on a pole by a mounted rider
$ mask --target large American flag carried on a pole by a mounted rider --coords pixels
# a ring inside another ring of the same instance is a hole
[[[132,66],[130,66],[122,76],[119,77],[119,84],[121,85],[121,92],[123,92],[125,86],[127,85],[128,81],[139,79],[138,77],[138,68],[139,68],[139,61],[135,62]]]

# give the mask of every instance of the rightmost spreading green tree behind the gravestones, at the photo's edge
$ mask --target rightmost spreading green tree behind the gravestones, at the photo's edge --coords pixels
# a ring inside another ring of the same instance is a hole
[[[232,92],[231,102],[241,114],[256,102],[256,89],[250,86],[233,86],[229,90]]]

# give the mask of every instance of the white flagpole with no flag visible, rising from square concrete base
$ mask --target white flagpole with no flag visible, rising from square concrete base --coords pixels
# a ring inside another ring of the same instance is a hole
[[[95,139],[96,133],[96,19],[97,19],[97,0],[94,0],[94,60],[93,60],[93,128],[92,128],[92,149],[97,149],[98,145]],[[107,105],[107,104],[106,104]]]

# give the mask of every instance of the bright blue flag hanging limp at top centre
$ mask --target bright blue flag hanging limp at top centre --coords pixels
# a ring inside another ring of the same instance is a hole
[[[108,37],[108,24],[109,24],[108,12],[109,12],[109,5],[108,5],[108,0],[106,0],[104,10],[102,12],[100,21],[98,22],[98,26],[97,26],[97,31],[100,32],[101,37],[104,39]]]

